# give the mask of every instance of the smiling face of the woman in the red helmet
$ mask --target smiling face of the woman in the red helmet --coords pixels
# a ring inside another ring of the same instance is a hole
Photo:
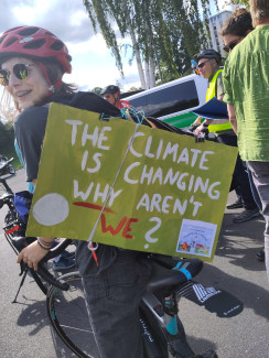
[[[15,76],[13,67],[17,64],[28,65],[28,76],[22,76],[25,78]],[[2,64],[2,69],[9,74],[6,88],[21,109],[35,106],[47,96],[49,84],[42,69],[31,58],[12,57]]]

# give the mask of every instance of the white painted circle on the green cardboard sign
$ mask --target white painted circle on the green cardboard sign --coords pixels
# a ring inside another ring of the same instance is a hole
[[[33,206],[35,220],[44,226],[61,224],[67,218],[68,214],[68,202],[57,193],[44,195]]]

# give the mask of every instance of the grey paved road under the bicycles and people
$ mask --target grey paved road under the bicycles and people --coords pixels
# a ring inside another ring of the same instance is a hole
[[[25,188],[23,175],[23,171],[19,171],[9,178],[14,191]],[[233,199],[232,193],[228,202]],[[226,210],[214,262],[205,264],[197,281],[234,294],[244,302],[243,313],[232,318],[219,318],[183,299],[180,316],[196,352],[212,348],[217,350],[219,358],[269,358],[269,283],[263,262],[255,258],[262,247],[265,223],[260,217],[245,224],[233,224],[233,216],[238,211]],[[3,214],[4,210],[0,210],[0,227]],[[74,357],[51,330],[44,296],[34,282],[28,278],[19,303],[11,303],[20,282],[19,267],[2,231],[0,239],[0,357]]]

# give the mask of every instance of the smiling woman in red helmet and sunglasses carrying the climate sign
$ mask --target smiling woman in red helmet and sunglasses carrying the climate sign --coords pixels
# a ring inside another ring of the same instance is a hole
[[[0,36],[0,83],[20,108],[14,121],[15,139],[25,163],[26,180],[34,185],[50,102],[121,116],[99,96],[76,93],[74,86],[63,82],[64,73],[72,70],[71,61],[65,44],[47,30],[18,26]],[[20,252],[18,262],[24,261],[36,270],[53,241],[53,238],[37,238]],[[143,357],[138,306],[149,276],[146,259],[137,251],[99,245],[95,251],[97,265],[87,241],[75,241],[76,262],[99,356]]]

